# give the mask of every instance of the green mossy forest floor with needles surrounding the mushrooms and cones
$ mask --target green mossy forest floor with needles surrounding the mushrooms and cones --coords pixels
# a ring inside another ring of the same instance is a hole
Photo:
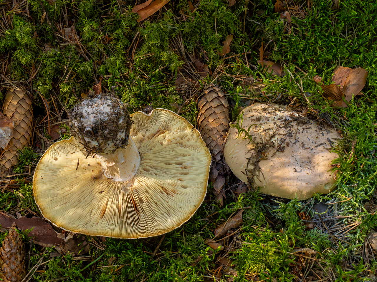
[[[67,109],[98,83],[130,112],[166,108],[196,127],[196,99],[207,83],[226,94],[232,121],[251,102],[290,105],[343,136],[336,188],[280,199],[230,174],[224,205],[210,183],[196,214],[166,235],[78,234],[53,247],[22,231],[23,281],[377,281],[375,0],[170,0],[138,21],[132,8],[143,2],[0,3],[1,103],[21,87],[34,107],[31,146],[0,177],[2,215],[42,217],[35,166],[52,143],[69,137]],[[314,81],[329,85],[339,65],[368,72],[362,95],[344,100]],[[335,107],[332,97],[348,106]],[[234,216],[228,233],[212,240],[218,244],[208,244]]]

